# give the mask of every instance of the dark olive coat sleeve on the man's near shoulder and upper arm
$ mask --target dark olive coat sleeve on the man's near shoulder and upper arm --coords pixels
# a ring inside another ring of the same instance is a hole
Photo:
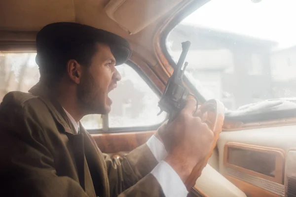
[[[87,197],[73,179],[57,176],[44,131],[28,110],[0,105],[0,196]]]

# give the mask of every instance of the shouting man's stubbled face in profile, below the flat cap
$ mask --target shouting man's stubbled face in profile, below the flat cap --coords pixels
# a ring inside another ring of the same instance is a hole
[[[78,84],[77,97],[83,110],[87,114],[109,113],[112,100],[108,94],[120,79],[110,47],[97,44],[91,65],[83,69],[81,83]]]

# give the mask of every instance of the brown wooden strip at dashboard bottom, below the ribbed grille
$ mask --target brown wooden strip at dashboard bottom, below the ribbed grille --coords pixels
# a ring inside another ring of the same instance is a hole
[[[272,192],[254,186],[252,184],[246,183],[239,179],[233,178],[232,176],[224,175],[231,183],[243,191],[247,197],[281,197]]]

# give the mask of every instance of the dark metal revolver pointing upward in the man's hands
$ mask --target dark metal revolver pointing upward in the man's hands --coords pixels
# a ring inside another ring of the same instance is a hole
[[[177,66],[174,69],[172,76],[169,78],[164,93],[158,102],[160,112],[157,115],[161,114],[163,111],[167,112],[169,115],[168,122],[173,121],[178,113],[185,107],[188,95],[191,95],[196,99],[194,95],[189,93],[188,89],[183,84],[184,71],[188,65],[187,62],[184,64],[184,61],[190,44],[190,41],[182,42],[182,53]],[[197,104],[195,110],[197,110]]]

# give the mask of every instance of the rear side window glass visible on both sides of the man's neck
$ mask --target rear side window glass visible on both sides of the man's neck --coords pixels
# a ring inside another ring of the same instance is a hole
[[[0,101],[11,91],[28,92],[39,80],[36,53],[0,53]],[[81,119],[85,129],[102,129],[101,115]]]

